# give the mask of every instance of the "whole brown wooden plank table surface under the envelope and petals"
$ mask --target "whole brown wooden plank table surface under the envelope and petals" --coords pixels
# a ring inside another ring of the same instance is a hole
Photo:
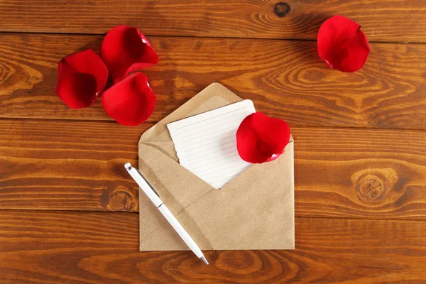
[[[0,283],[426,283],[426,2],[0,1]],[[371,43],[317,55],[329,16]],[[119,24],[145,33],[158,96],[138,127],[55,96],[58,60]],[[212,82],[289,122],[295,251],[138,251],[141,134]]]

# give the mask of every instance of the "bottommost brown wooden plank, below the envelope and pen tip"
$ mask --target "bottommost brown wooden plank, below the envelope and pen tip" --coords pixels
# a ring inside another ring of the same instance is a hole
[[[296,218],[295,251],[138,252],[138,216],[0,212],[2,283],[423,283],[426,222]],[[413,281],[413,282],[410,282]],[[417,282],[416,282],[417,281]]]

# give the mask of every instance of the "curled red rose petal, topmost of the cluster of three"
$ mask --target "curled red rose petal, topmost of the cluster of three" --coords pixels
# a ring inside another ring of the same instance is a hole
[[[131,26],[112,28],[105,35],[100,54],[114,83],[129,72],[158,63],[158,56],[146,37]]]

